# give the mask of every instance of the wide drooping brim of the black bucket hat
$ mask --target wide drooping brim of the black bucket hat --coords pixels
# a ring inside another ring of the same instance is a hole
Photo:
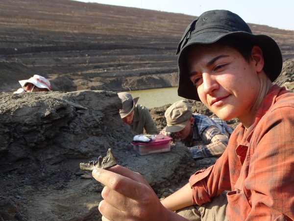
[[[217,30],[215,30],[217,31]],[[189,40],[189,43],[185,45],[179,54],[178,57],[178,95],[187,99],[192,99],[200,101],[196,87],[190,81],[189,75],[185,72],[183,65],[183,57],[185,52],[192,45],[203,45],[203,44],[212,44],[223,38],[234,38],[240,39],[241,41],[246,41],[252,45],[259,46],[263,51],[263,56],[265,60],[264,71],[267,76],[270,78],[270,81],[273,82],[281,73],[283,66],[283,58],[279,46],[277,43],[267,35],[254,35],[245,31],[236,31],[230,33],[216,34],[214,33],[213,37],[207,37],[207,33],[201,33],[192,37]],[[208,41],[209,40],[209,41]]]

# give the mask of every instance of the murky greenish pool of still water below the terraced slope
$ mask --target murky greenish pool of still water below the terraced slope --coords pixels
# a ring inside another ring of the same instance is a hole
[[[133,98],[140,97],[138,104],[150,108],[162,107],[166,104],[172,104],[184,98],[177,95],[177,87],[165,87],[147,90],[126,91]]]

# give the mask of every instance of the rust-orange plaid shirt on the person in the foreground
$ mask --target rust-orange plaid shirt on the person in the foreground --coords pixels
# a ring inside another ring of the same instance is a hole
[[[189,182],[201,205],[225,190],[230,221],[294,220],[294,93],[274,85],[245,130],[239,124],[214,166]]]

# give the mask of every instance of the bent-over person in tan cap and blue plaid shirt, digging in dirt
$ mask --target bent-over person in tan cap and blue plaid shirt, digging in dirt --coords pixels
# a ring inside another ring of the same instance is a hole
[[[194,159],[219,157],[228,145],[233,129],[218,117],[192,113],[185,100],[173,103],[166,111],[167,126],[161,134],[180,139]]]

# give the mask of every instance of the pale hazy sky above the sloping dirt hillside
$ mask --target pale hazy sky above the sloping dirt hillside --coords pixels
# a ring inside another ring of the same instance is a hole
[[[238,14],[246,23],[294,30],[294,0],[79,0],[199,16],[214,9]]]

